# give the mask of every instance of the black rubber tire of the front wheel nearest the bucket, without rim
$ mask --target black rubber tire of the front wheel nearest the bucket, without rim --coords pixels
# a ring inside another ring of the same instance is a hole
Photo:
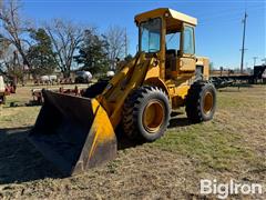
[[[160,101],[163,106],[163,122],[156,132],[149,132],[143,124],[143,112],[152,100]],[[130,94],[123,107],[123,130],[130,139],[152,142],[161,138],[168,127],[171,114],[170,100],[167,94],[157,87],[141,87]]]

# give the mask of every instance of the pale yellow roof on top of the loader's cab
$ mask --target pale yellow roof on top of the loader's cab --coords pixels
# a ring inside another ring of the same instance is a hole
[[[185,22],[185,23],[190,23],[192,26],[196,26],[197,24],[197,19],[190,17],[187,14],[177,12],[175,10],[168,9],[168,8],[158,8],[155,10],[151,10],[147,12],[143,12],[140,14],[135,16],[135,21],[137,23],[142,22],[142,21],[146,21],[151,18],[156,18],[156,17],[163,17],[163,16],[168,16],[166,19],[166,24],[176,24],[176,23],[181,23],[181,22]]]

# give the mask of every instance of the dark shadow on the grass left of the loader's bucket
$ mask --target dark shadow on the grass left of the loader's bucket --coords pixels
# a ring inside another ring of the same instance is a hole
[[[63,178],[28,141],[29,129],[0,129],[0,184]]]

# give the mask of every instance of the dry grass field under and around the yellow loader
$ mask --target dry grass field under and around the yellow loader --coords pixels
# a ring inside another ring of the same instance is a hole
[[[19,88],[0,110],[0,199],[213,199],[200,180],[266,187],[266,87],[227,88],[217,97],[214,120],[190,124],[173,114],[165,136],[119,151],[114,161],[62,178],[27,140],[40,107],[14,107],[30,97]],[[183,110],[182,110],[183,111]],[[266,191],[266,190],[265,190]],[[266,193],[231,199],[266,199]]]

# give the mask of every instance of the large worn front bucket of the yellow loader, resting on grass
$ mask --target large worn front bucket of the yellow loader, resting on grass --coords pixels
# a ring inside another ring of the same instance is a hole
[[[29,140],[65,176],[112,160],[116,137],[96,99],[43,90],[41,108]]]

